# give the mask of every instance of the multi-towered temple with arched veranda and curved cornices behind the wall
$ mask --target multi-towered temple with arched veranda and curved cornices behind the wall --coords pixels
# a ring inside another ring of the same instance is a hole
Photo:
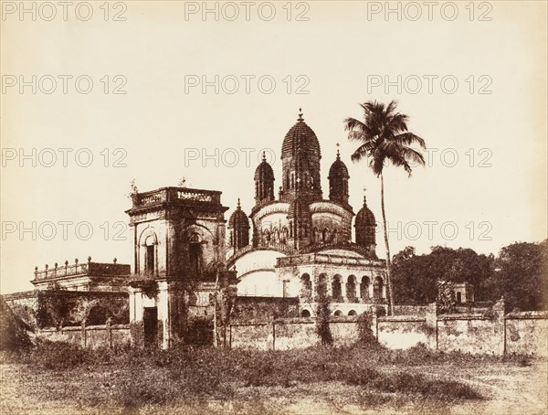
[[[318,286],[326,286],[334,314],[360,314],[385,303],[385,261],[375,253],[375,220],[364,206],[349,205],[348,169],[337,151],[329,171],[329,199],[323,198],[321,149],[302,113],[281,145],[281,186],[263,157],[255,172],[255,206],[248,221],[233,225],[227,266],[237,270],[237,293],[245,296],[299,297],[300,313],[314,314]],[[234,215],[242,217],[239,207]],[[242,236],[244,235],[244,236]]]

